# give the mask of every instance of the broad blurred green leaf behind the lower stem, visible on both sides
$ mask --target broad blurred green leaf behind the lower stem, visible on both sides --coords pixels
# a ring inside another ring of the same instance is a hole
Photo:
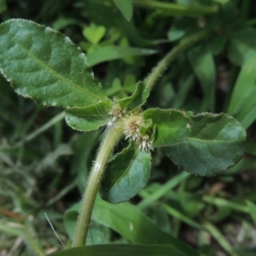
[[[80,204],[75,205],[64,215],[64,224],[70,237],[73,237],[79,207]],[[129,202],[113,205],[97,197],[92,219],[110,227],[133,243],[172,244],[185,255],[199,256],[195,249],[160,230],[143,212]]]

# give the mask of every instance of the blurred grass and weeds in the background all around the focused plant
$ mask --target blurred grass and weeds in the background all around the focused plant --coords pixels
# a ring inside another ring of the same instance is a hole
[[[148,186],[131,200],[133,207],[105,209],[124,219],[143,211],[161,230],[207,256],[256,253],[254,5],[249,0],[134,0],[133,12],[122,13],[107,0],[0,1],[2,21],[34,20],[79,44],[111,97],[131,95],[136,81],[170,49],[209,31],[201,43],[177,55],[147,104],[230,113],[247,129],[247,154],[216,177],[195,177],[177,170],[156,148]],[[66,214],[64,225],[63,214],[80,201],[104,131],[73,131],[61,109],[17,96],[2,77],[0,91],[1,256],[62,248],[44,212],[68,247],[73,218]],[[142,243],[117,228],[125,223],[102,220],[103,213],[94,213],[90,244]]]

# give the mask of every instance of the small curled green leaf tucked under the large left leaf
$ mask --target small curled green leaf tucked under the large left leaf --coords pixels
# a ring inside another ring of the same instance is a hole
[[[78,131],[97,130],[110,121],[108,113],[111,106],[111,101],[105,101],[86,108],[69,108],[66,113],[67,125]]]

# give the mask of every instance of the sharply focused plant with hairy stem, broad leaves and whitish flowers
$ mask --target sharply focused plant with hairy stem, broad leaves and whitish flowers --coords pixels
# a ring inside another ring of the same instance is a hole
[[[106,126],[84,191],[73,248],[56,255],[104,253],[103,247],[84,247],[96,195],[100,190],[104,201],[129,201],[147,184],[154,148],[163,147],[177,166],[202,176],[216,175],[241,159],[246,132],[229,115],[143,107],[168,64],[180,52],[210,36],[211,32],[202,31],[188,38],[137,83],[131,96],[110,99],[86,67],[84,53],[60,32],[28,20],[9,20],[0,26],[1,73],[18,94],[45,106],[65,108],[67,125],[75,130],[93,131]],[[120,139],[129,141],[129,145],[113,154]],[[130,251],[126,252],[127,247]],[[119,250],[122,255],[131,255],[132,250],[149,256],[159,255],[156,252],[197,255],[174,240],[169,245],[112,245],[111,249],[111,255],[121,255]]]

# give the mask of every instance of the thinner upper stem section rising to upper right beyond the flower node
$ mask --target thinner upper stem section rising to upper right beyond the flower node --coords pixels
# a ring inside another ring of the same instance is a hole
[[[160,77],[162,73],[166,71],[168,65],[184,50],[189,49],[192,45],[199,42],[203,38],[207,38],[211,32],[209,30],[204,30],[195,34],[194,36],[188,38],[184,43],[177,45],[173,48],[158,64],[153,68],[152,72],[144,80],[147,84],[148,89],[151,90],[154,86],[156,80]]]

